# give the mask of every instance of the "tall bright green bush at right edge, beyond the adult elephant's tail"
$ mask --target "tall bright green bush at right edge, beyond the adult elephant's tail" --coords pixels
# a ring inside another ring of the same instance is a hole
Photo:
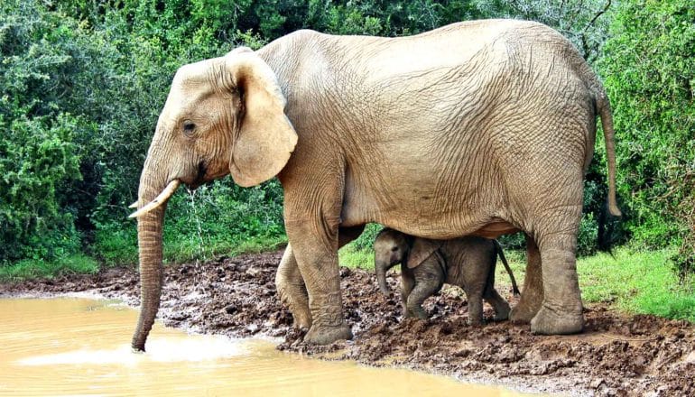
[[[695,8],[625,2],[598,65],[613,104],[626,228],[695,271]]]

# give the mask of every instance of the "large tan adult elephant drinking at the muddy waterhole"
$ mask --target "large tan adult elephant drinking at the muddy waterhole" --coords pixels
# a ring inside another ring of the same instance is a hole
[[[275,175],[283,184],[290,245],[277,287],[311,343],[351,337],[337,252],[367,222],[438,239],[523,230],[529,275],[515,318],[533,318],[536,333],[579,332],[575,251],[597,114],[619,214],[604,89],[540,23],[455,23],[403,38],[300,31],[181,67],[133,214],[134,348],[144,349],[159,307],[167,199],[181,182],[227,173],[241,186]]]

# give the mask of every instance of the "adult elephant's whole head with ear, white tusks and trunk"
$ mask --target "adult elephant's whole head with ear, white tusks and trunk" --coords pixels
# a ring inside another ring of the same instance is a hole
[[[282,171],[297,143],[273,70],[254,51],[181,67],[159,116],[138,189],[141,310],[133,347],[144,343],[162,291],[162,223],[181,183],[195,189],[227,173],[253,186]]]

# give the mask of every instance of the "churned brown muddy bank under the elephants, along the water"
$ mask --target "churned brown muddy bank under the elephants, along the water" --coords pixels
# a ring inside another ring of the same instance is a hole
[[[306,346],[275,293],[281,253],[247,254],[165,269],[160,318],[171,327],[231,337],[281,337],[282,350],[367,365],[409,367],[521,391],[569,395],[693,396],[695,326],[653,316],[628,317],[603,305],[585,309],[586,331],[577,336],[534,336],[528,326],[493,322],[467,325],[465,296],[445,289],[427,301],[430,320],[403,320],[397,275],[392,296],[382,296],[375,275],[342,268],[347,321],[355,338],[331,346]],[[138,303],[134,269],[91,276],[0,284],[0,296],[92,291]],[[514,300],[511,291],[500,291]],[[514,303],[513,303],[514,304]]]

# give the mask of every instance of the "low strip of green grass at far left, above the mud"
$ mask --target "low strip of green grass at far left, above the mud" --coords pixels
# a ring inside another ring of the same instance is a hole
[[[0,281],[51,279],[62,274],[91,274],[98,270],[97,261],[84,254],[70,255],[50,262],[26,259],[11,265],[0,266]]]

